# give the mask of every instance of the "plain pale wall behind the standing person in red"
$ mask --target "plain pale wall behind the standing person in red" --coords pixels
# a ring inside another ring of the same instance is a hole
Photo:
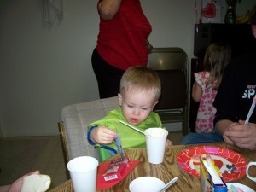
[[[247,0],[251,4],[253,1]],[[96,2],[63,0],[64,20],[47,27],[42,22],[41,0],[1,1],[0,129],[3,136],[56,135],[63,106],[99,98],[90,63],[98,33]],[[181,47],[190,61],[195,1],[141,2],[153,27],[151,44]]]

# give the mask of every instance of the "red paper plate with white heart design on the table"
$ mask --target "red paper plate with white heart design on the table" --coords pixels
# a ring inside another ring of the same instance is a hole
[[[200,177],[200,154],[211,154],[224,182],[235,181],[246,174],[247,160],[227,148],[211,146],[186,148],[177,155],[177,163],[185,172]]]

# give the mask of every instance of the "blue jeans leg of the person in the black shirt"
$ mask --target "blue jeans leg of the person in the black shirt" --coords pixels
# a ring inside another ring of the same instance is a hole
[[[218,143],[224,142],[223,137],[218,132],[211,133],[196,133],[192,132],[183,137],[182,145],[197,144],[197,143]]]

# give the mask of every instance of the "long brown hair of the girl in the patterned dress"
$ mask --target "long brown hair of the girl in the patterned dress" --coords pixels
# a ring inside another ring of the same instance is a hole
[[[204,67],[210,72],[214,83],[214,89],[218,90],[218,86],[222,80],[225,67],[231,61],[231,46],[227,43],[213,43],[207,47],[204,57]]]

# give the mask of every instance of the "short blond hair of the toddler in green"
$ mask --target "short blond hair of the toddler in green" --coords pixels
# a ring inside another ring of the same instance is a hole
[[[151,68],[137,66],[128,68],[120,82],[120,93],[125,91],[137,92],[141,90],[153,90],[155,101],[160,97],[161,83],[158,74]]]

